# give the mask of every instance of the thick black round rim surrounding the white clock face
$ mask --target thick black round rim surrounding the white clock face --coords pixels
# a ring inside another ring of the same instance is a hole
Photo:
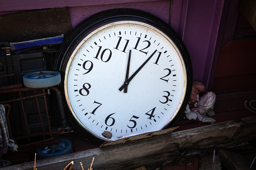
[[[134,9],[113,9],[113,10],[107,10],[107,11],[103,11],[98,14],[95,14],[89,17],[88,19],[82,21],[81,23],[79,23],[73,30],[71,30],[65,36],[64,41],[62,42],[56,54],[53,69],[56,71],[59,71],[61,74],[62,80],[59,85],[59,88],[62,92],[64,91],[64,76],[65,76],[65,69],[66,69],[68,60],[72,52],[74,51],[75,47],[83,40],[83,38],[85,38],[94,30],[100,28],[101,26],[104,26],[112,22],[124,21],[124,20],[146,23],[148,25],[151,25],[159,29],[176,44],[180,53],[182,54],[182,58],[185,64],[185,71],[187,73],[187,81],[186,81],[187,89],[186,89],[186,94],[185,94],[183,104],[178,114],[175,116],[175,118],[172,121],[170,121],[170,123],[166,128],[172,127],[174,123],[177,122],[177,120],[182,116],[190,99],[192,85],[193,85],[192,64],[191,64],[188,50],[184,42],[182,41],[182,39],[179,37],[179,35],[165,22],[146,12],[134,10]],[[92,134],[88,133],[83,127],[81,127],[81,125],[77,123],[77,121],[72,116],[72,113],[68,108],[67,102],[65,100],[65,96],[64,96],[64,101],[65,101],[64,105],[66,108],[66,117],[67,117],[68,125],[76,133],[80,134],[81,136],[97,142],[102,142],[101,139],[98,139]]]

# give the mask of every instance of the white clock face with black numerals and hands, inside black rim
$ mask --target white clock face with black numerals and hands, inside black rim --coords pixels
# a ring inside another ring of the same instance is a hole
[[[103,140],[162,129],[184,95],[180,55],[172,40],[147,24],[120,21],[99,28],[81,40],[68,61],[69,109]]]

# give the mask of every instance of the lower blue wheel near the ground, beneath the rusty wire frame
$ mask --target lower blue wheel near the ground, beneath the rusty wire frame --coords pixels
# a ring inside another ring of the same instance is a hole
[[[43,159],[72,153],[72,147],[69,140],[58,138],[56,144],[38,146],[36,152],[37,158]]]

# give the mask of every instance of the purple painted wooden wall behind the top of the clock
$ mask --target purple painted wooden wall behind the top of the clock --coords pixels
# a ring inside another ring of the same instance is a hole
[[[0,2],[0,15],[17,11],[69,7],[72,27],[98,12],[114,8],[132,8],[151,13],[181,36],[191,56],[194,80],[211,87],[215,73],[216,47],[224,0],[13,0]],[[1,40],[0,40],[1,41]],[[211,90],[211,89],[208,89]]]

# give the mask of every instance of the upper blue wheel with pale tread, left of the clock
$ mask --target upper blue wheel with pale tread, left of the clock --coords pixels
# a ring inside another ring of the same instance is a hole
[[[23,76],[24,86],[30,88],[52,87],[60,81],[60,73],[57,71],[32,72]]]

